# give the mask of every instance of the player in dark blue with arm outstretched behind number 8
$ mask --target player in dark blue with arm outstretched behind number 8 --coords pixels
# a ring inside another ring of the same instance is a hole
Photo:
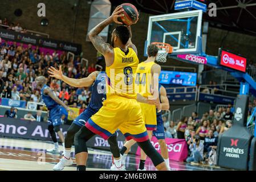
[[[64,142],[64,156],[60,159],[60,162],[54,166],[55,171],[62,170],[65,166],[70,166],[72,164],[72,159],[70,158],[72,144],[74,142],[75,134],[78,133],[80,128],[85,125],[87,120],[92,117],[100,107],[103,105],[102,102],[106,99],[105,88],[107,75],[105,72],[93,72],[86,78],[74,79],[66,77],[62,74],[62,68],[60,66],[59,70],[56,70],[54,67],[51,67],[48,71],[51,77],[58,78],[66,82],[70,86],[74,87],[88,87],[92,86],[92,95],[91,101],[86,110],[83,111],[77,118],[74,119],[71,126],[68,128],[67,135]],[[112,154],[119,154],[119,147],[116,140],[116,135],[112,135],[108,139],[110,145],[110,150]]]

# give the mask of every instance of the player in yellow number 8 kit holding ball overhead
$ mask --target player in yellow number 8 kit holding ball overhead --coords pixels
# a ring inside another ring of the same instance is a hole
[[[107,44],[99,36],[100,32],[109,24],[118,22],[123,16],[123,9],[118,6],[113,14],[98,24],[89,33],[94,47],[105,57],[107,73],[107,99],[101,109],[93,115],[75,135],[75,157],[78,171],[86,170],[88,157],[86,142],[95,134],[108,139],[117,129],[127,140],[134,139],[145,153],[152,159],[159,170],[168,170],[164,159],[152,146],[143,118],[141,108],[136,101],[135,77],[139,59],[137,50],[131,42],[131,32],[125,26],[118,26],[112,32],[112,44]],[[116,169],[122,169],[120,154],[115,155]]]

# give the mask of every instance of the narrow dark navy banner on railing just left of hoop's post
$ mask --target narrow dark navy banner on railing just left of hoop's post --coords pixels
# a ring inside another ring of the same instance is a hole
[[[216,96],[213,94],[200,93],[199,95],[200,101],[212,101],[214,103],[227,104],[234,103],[235,97],[227,97],[227,96]]]

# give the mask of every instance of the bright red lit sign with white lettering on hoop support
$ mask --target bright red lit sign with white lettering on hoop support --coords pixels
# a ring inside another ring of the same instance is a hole
[[[219,53],[220,65],[232,68],[237,71],[246,72],[246,58],[235,55],[229,51],[220,49]]]

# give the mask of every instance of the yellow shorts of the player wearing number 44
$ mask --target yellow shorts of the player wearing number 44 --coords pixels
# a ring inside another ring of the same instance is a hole
[[[156,130],[156,106],[140,103],[141,114],[147,130]]]

